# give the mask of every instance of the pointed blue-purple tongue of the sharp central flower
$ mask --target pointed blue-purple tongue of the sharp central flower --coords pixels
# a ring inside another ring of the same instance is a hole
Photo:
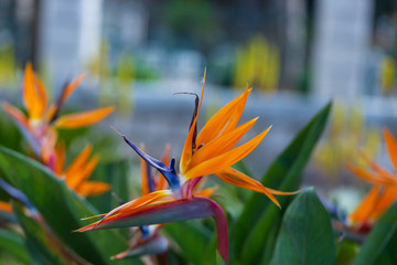
[[[155,168],[160,171],[160,173],[165,178],[168,184],[170,186],[170,189],[172,191],[176,191],[180,188],[180,178],[175,172],[174,165],[175,159],[171,159],[170,168],[167,167],[162,161],[157,160],[155,158],[150,157],[148,153],[139,149],[138,146],[132,144],[130,140],[127,139],[126,136],[121,135],[124,140],[140,156],[149,166]]]

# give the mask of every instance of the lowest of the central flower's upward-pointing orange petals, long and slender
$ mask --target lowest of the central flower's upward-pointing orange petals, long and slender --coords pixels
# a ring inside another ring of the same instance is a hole
[[[201,176],[216,173],[218,171],[222,171],[223,169],[230,167],[232,165],[245,158],[249,152],[251,152],[265,138],[271,126],[251,140],[247,141],[246,144],[236,147],[230,151],[224,152],[205,162],[202,162],[201,165],[195,166],[194,168],[190,169],[184,176],[187,179],[193,179]]]

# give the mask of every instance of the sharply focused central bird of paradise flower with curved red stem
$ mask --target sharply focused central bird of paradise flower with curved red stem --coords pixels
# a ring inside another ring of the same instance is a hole
[[[225,213],[222,208],[207,197],[194,194],[204,176],[215,174],[223,181],[244,189],[266,194],[276,205],[280,206],[276,195],[296,194],[281,192],[264,187],[232,166],[251,152],[265,138],[270,127],[249,141],[235,147],[240,138],[255,125],[254,118],[243,125],[237,123],[243,114],[247,97],[251,89],[245,92],[222,107],[197,134],[197,117],[204,95],[205,74],[201,99],[196,98],[196,107],[181,155],[179,173],[175,159],[167,167],[121,135],[124,140],[152,168],[165,178],[169,189],[143,194],[141,198],[120,205],[95,223],[76,232],[126,226],[163,224],[190,219],[212,216],[217,232],[217,250],[223,259],[228,262],[228,233]]]

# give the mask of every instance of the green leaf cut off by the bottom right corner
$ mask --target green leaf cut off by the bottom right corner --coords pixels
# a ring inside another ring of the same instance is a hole
[[[397,202],[382,215],[365,240],[354,265],[397,264]]]

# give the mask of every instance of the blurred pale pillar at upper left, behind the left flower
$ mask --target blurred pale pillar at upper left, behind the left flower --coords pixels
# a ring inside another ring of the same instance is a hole
[[[98,51],[103,0],[42,0],[39,61],[60,89]]]

